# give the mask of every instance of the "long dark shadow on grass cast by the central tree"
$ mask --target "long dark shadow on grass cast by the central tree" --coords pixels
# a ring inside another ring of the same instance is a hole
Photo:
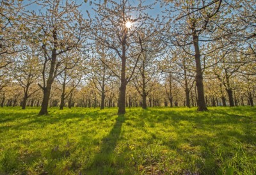
[[[115,164],[114,150],[124,121],[125,116],[118,115],[115,125],[109,134],[102,139],[99,153],[94,156],[92,163],[84,170],[86,174],[115,174],[115,172],[109,172],[109,167],[113,167]]]

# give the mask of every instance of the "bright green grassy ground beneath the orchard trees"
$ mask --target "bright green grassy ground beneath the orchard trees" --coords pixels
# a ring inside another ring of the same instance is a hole
[[[255,174],[255,107],[0,109],[0,174]]]

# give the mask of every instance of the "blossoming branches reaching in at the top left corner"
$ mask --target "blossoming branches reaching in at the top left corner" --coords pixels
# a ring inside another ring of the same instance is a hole
[[[13,62],[13,54],[26,49],[24,33],[20,28],[22,13],[26,5],[18,0],[4,0],[0,2],[0,69]]]

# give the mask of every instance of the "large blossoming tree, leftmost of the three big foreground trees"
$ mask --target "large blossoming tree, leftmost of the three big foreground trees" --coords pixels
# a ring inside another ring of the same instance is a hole
[[[85,26],[82,15],[78,10],[79,5],[74,2],[61,4],[60,0],[38,1],[44,11],[31,11],[28,17],[27,30],[31,31],[31,42],[36,43],[38,52],[42,53],[42,80],[43,84],[38,84],[43,90],[44,96],[40,115],[47,114],[51,88],[54,79],[66,69],[72,69],[76,61],[69,60],[68,66],[61,68],[67,63],[63,61],[61,55],[70,50],[77,49],[84,42]]]

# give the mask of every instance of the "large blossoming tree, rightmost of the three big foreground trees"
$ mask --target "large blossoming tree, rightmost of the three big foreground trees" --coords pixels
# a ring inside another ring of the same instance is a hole
[[[202,43],[214,42],[226,34],[221,33],[221,36],[216,34],[216,30],[222,22],[222,17],[226,15],[227,11],[225,6],[221,5],[222,3],[222,0],[173,1],[173,3],[170,3],[172,5],[176,4],[174,8],[177,9],[175,11],[179,14],[178,17],[171,17],[175,20],[172,22],[172,26],[169,25],[172,29],[172,34],[170,35],[172,39],[170,39],[170,42],[195,57],[195,81],[199,111],[207,110],[202,69],[202,56],[206,56],[207,53],[205,50],[200,50],[200,47],[202,49]],[[173,14],[177,15],[177,13]],[[188,45],[193,46],[194,52],[191,53],[185,49]],[[211,52],[214,52],[214,50],[211,50]]]

